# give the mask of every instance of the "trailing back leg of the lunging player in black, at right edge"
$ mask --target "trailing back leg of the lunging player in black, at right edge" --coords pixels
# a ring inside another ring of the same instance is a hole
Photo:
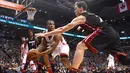
[[[113,43],[109,44],[109,47],[107,47],[106,50],[107,52],[110,52],[112,55],[114,55],[116,60],[118,60],[123,65],[130,65],[130,57],[121,48],[120,39],[117,39]]]

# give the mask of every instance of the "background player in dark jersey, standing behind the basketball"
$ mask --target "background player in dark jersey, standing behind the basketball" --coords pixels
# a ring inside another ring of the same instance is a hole
[[[27,47],[28,50],[31,50],[37,47],[38,39],[34,37],[34,33],[32,30],[29,30],[28,33],[29,33],[29,37],[26,39],[27,42],[26,46],[28,46]],[[26,59],[26,63],[24,65],[24,69],[22,70],[22,72],[23,73],[25,72],[29,64],[31,64],[31,66],[34,69],[34,73],[36,73],[36,66],[34,65],[33,61],[29,61],[28,58]]]

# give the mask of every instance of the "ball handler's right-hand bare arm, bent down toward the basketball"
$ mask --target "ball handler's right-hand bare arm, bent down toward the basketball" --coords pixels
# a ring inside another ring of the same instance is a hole
[[[41,54],[44,55],[44,54],[52,53],[56,49],[57,45],[59,44],[60,39],[61,39],[61,35],[55,35],[51,47],[45,50],[44,52],[42,52]]]

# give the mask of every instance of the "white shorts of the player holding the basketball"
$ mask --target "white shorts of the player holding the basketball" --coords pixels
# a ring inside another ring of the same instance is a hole
[[[61,45],[55,49],[55,51],[52,53],[52,56],[53,58],[55,58],[57,55],[60,55],[60,54],[66,54],[67,56],[69,56],[69,51],[70,51],[70,48],[68,44]]]

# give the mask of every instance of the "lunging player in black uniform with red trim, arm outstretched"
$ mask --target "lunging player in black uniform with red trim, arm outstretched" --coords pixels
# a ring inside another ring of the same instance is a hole
[[[99,16],[89,13],[87,11],[87,4],[83,1],[75,3],[75,14],[77,17],[67,25],[48,33],[35,34],[41,37],[62,34],[78,25],[80,26],[79,29],[82,28],[90,32],[85,39],[77,44],[70,73],[77,73],[86,49],[94,53],[98,53],[99,49],[107,50],[106,53],[116,56],[120,63],[130,65],[130,58],[121,48],[119,35],[110,24],[103,22]]]

